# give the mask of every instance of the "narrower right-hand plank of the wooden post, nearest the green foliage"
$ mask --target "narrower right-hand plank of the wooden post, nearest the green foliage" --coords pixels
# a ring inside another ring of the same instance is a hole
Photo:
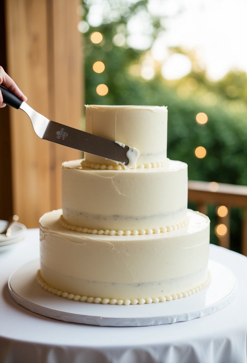
[[[80,129],[81,105],[81,34],[77,25],[80,21],[76,12],[80,0],[53,0],[53,109],[51,114],[57,122]],[[50,9],[51,11],[51,9]],[[51,54],[51,52],[50,52]],[[61,163],[79,159],[82,153],[60,145],[50,145],[50,173],[56,180],[56,188],[51,188],[52,208],[61,203]]]

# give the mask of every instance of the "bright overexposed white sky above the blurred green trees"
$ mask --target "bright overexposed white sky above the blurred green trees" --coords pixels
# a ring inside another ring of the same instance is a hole
[[[246,48],[242,46],[247,29],[247,1],[237,0],[234,6],[231,1],[215,0],[149,0],[145,6],[140,4],[141,7],[137,4],[137,0],[122,2],[90,0],[83,3],[84,6],[80,5],[77,8],[77,13],[82,19],[87,20],[89,26],[98,29],[102,24],[103,26],[118,24],[116,38],[113,40],[117,45],[124,44],[125,41],[134,49],[151,48],[155,60],[162,63],[166,63],[176,49],[178,52],[185,50],[192,61],[194,58],[199,61],[193,62],[193,72],[200,72],[205,67],[206,75],[213,81],[222,79],[231,69],[247,72]],[[116,5],[113,5],[114,3]],[[137,4],[135,11],[130,10],[133,4]],[[222,16],[222,4],[224,4],[224,16]],[[128,7],[129,14],[126,12]],[[121,16],[128,18],[126,24],[122,24],[124,22]],[[156,21],[157,23],[160,21],[161,26],[155,34]],[[215,36],[219,34],[219,29],[224,34],[220,41],[219,37]],[[184,54],[181,56],[184,57]],[[165,76],[177,79],[183,69],[181,76],[183,77],[185,62],[181,60],[181,64],[177,64],[172,60],[169,72],[166,69],[168,64],[165,66]],[[196,86],[196,83],[192,83],[192,88],[189,86],[189,90]],[[235,82],[226,86],[229,97],[235,97],[238,91],[239,87]]]

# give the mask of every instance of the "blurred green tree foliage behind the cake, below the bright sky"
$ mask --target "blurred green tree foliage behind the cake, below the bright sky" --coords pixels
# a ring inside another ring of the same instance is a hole
[[[110,5],[112,1],[109,2]],[[147,50],[136,50],[129,46],[116,46],[113,37],[119,29],[126,36],[126,24],[130,14],[146,9],[147,1],[130,4],[121,3],[117,21],[105,19],[100,26],[89,26],[84,34],[83,54],[85,67],[85,103],[98,105],[158,105],[168,106],[168,157],[188,164],[191,180],[217,181],[230,184],[247,184],[247,76],[243,72],[230,72],[218,82],[210,82],[201,69],[196,57],[187,53],[192,60],[192,72],[177,81],[166,81],[157,67],[153,79],[146,81],[130,72],[131,66],[140,65]],[[84,21],[87,21],[90,2],[84,2]],[[111,5],[113,6],[113,5]],[[164,31],[160,19],[153,21],[152,36]],[[103,35],[100,44],[93,44],[90,34],[99,31]],[[171,49],[183,52],[182,49]],[[105,64],[104,72],[92,69],[96,61]],[[108,94],[100,96],[96,87],[105,83]],[[199,125],[196,115],[204,112],[208,122]],[[206,148],[205,158],[198,159],[194,150]],[[196,206],[189,203],[189,207]],[[211,219],[211,242],[217,243],[214,227],[217,224],[215,206],[209,207]],[[231,209],[231,248],[240,250],[240,228],[242,211]]]

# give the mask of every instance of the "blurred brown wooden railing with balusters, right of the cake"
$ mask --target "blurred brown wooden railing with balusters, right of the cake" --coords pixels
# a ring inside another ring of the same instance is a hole
[[[216,182],[194,181],[188,182],[188,200],[196,203],[199,212],[207,215],[208,205],[224,205],[229,209],[227,215],[218,216],[218,223],[227,227],[223,236],[218,236],[219,245],[230,248],[230,208],[244,209],[241,233],[241,252],[247,256],[247,187]]]

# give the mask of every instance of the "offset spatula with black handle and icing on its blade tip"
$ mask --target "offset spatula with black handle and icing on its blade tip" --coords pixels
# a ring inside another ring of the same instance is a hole
[[[41,139],[114,160],[126,168],[135,167],[139,156],[139,151],[135,147],[50,121],[34,111],[26,102],[22,101],[5,87],[0,86],[0,90],[4,103],[17,110],[21,109],[28,114],[34,131]]]

